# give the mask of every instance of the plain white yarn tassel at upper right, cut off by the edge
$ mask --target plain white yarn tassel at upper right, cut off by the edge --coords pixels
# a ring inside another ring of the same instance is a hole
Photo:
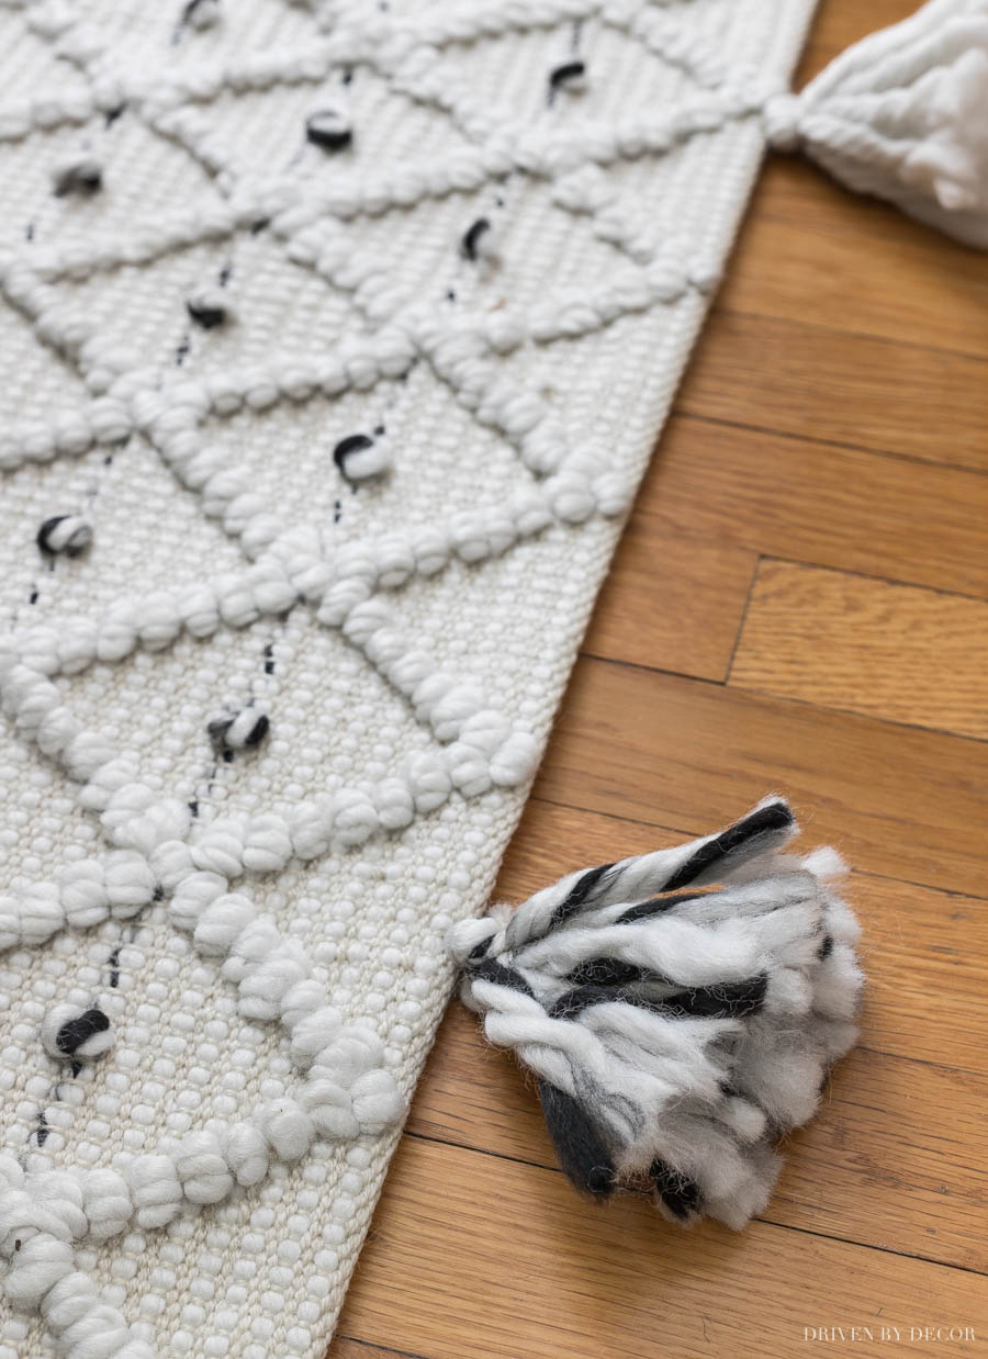
[[[777,151],[988,250],[988,0],[930,0],[764,116]]]

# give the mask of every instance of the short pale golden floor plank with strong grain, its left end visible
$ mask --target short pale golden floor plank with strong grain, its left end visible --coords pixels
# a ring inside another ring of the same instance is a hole
[[[988,603],[762,561],[733,686],[988,738]]]

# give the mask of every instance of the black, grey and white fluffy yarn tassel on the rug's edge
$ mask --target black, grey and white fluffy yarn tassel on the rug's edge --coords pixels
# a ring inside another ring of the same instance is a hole
[[[461,996],[538,1078],[578,1189],[651,1192],[663,1214],[743,1227],[777,1137],[853,1044],[858,923],[833,849],[780,851],[781,799],[719,834],[572,872],[455,925]]]

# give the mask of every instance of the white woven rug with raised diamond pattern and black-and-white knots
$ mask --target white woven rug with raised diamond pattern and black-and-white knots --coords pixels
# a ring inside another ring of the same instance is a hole
[[[325,1349],[810,10],[0,5],[0,1359]]]

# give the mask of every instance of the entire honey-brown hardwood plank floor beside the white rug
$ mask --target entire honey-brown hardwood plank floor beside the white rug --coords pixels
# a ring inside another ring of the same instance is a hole
[[[802,76],[913,7],[824,0]],[[587,1205],[454,1003],[332,1359],[988,1354],[988,260],[786,159],[499,896],[769,788],[855,866],[868,991],[766,1212],[682,1233],[636,1196]]]

